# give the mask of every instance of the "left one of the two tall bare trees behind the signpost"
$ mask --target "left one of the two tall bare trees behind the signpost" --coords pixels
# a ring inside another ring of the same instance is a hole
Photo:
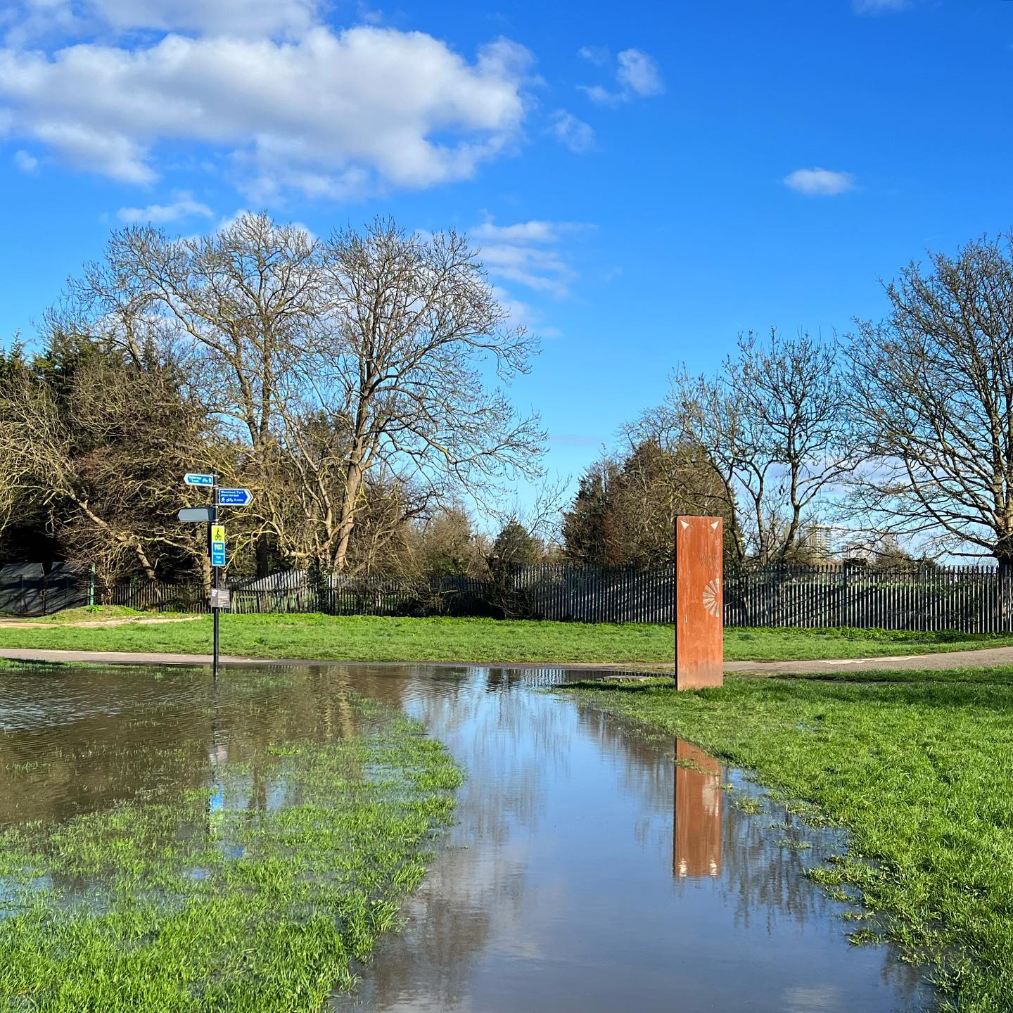
[[[266,215],[240,215],[209,236],[175,239],[151,227],[112,235],[103,262],[72,288],[99,319],[120,318],[133,349],[134,321],[187,345],[188,375],[244,447],[236,476],[261,490],[277,473],[278,434],[293,385],[306,373],[307,338],[319,311],[318,247],[304,229]],[[197,462],[194,462],[197,464]],[[266,571],[267,536],[281,519],[254,499],[260,522],[257,568]]]

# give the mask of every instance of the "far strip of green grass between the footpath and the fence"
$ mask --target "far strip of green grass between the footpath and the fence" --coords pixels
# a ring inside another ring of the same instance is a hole
[[[111,618],[122,619],[116,609]],[[211,619],[161,625],[73,627],[99,609],[74,610],[31,628],[0,624],[0,647],[207,653]],[[138,617],[141,618],[141,617]],[[38,628],[35,629],[34,627]],[[728,629],[728,660],[874,657],[1013,644],[1013,636],[893,630]],[[534,622],[495,619],[407,619],[369,616],[225,615],[222,650],[258,657],[349,661],[476,661],[672,664],[666,626]]]

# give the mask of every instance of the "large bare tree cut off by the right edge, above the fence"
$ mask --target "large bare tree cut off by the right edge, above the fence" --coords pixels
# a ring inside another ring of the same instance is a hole
[[[930,253],[859,321],[852,405],[870,457],[857,503],[884,531],[1013,566],[1013,237]]]

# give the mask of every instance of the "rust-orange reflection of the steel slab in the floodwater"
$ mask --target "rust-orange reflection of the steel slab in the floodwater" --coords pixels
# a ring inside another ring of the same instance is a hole
[[[721,874],[723,805],[721,765],[703,750],[677,739],[672,833],[672,871],[677,878]]]

